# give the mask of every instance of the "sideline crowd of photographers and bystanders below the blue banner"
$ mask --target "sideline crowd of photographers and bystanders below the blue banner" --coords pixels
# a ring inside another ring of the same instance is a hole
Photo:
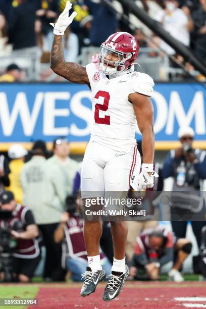
[[[193,148],[190,127],[180,128],[178,137],[180,146],[168,153],[164,165],[155,163],[159,178],[146,190],[140,206],[145,216],[127,221],[130,280],[158,280],[161,268],[170,262],[169,278],[183,281],[183,262],[192,249],[186,238],[189,221],[199,248],[193,256],[193,271],[206,278],[206,153]],[[142,155],[140,141],[138,149]],[[87,252],[80,171],[81,163],[70,158],[66,137],[54,140],[52,152],[38,140],[30,151],[17,143],[10,146],[8,156],[0,156],[1,280],[28,282],[39,264],[44,281],[81,280]],[[164,199],[165,191],[170,202]],[[138,198],[135,194],[130,189],[129,198]],[[160,220],[171,220],[171,230]],[[100,259],[109,275],[113,261],[109,221],[102,222],[102,231]],[[6,253],[11,259],[5,258]]]

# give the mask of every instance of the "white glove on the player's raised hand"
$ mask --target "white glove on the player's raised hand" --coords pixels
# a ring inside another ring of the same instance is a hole
[[[77,12],[73,12],[69,17],[69,11],[72,8],[70,1],[67,1],[64,11],[60,14],[56,24],[50,23],[54,27],[54,34],[64,35],[67,27],[72,23],[73,19],[76,17]]]

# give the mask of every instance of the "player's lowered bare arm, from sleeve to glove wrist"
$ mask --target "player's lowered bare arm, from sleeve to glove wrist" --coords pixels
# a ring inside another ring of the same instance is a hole
[[[155,152],[155,133],[153,131],[153,106],[149,96],[140,93],[131,93],[129,101],[132,102],[137,124],[142,133],[143,162],[153,163]]]

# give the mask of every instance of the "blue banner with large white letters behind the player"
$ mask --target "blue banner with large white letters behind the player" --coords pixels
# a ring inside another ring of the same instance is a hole
[[[205,88],[193,83],[157,83],[154,90],[156,141],[176,141],[180,126],[191,126],[195,139],[205,140]],[[87,142],[91,123],[91,92],[85,85],[0,85],[0,143],[52,141],[60,135]],[[140,138],[138,130],[136,138]]]

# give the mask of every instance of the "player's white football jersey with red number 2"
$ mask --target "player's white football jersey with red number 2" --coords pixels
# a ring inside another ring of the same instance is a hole
[[[131,72],[108,79],[94,63],[86,66],[86,72],[92,92],[91,140],[117,151],[129,151],[136,142],[136,117],[128,96],[134,92],[151,96],[152,78]]]

